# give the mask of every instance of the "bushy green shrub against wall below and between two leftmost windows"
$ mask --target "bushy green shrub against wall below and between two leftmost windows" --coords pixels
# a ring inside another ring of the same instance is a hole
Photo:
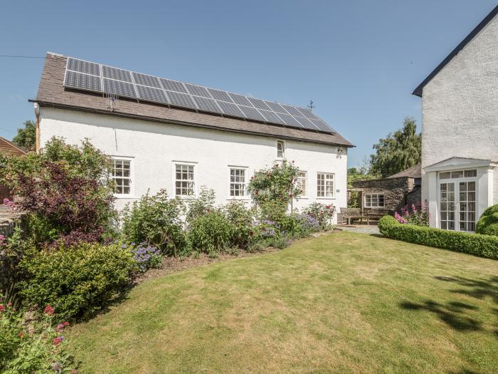
[[[166,189],[154,196],[145,194],[139,201],[127,204],[122,211],[122,235],[127,243],[146,243],[163,254],[174,256],[190,253],[181,214],[183,200],[169,199]]]

